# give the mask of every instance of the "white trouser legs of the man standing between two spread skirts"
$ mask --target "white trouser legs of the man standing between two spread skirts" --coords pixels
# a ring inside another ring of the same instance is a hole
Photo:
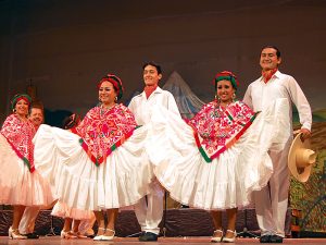
[[[135,205],[135,213],[141,231],[160,233],[159,224],[163,217],[164,191],[156,180],[149,186],[149,193]]]

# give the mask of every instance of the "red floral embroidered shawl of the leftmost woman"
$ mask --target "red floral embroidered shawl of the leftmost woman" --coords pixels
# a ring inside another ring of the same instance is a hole
[[[34,167],[33,137],[35,127],[29,120],[22,121],[16,114],[9,115],[1,128],[1,134],[7,138],[16,155],[28,166],[29,171]]]

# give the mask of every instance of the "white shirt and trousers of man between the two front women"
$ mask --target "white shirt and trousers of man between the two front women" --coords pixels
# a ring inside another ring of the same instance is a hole
[[[137,124],[145,124],[149,126],[147,138],[152,137],[151,125],[148,123],[151,120],[153,108],[156,106],[166,108],[168,111],[171,111],[171,113],[180,119],[178,107],[173,95],[170,91],[161,89],[160,87],[158,87],[148,99],[146,98],[145,91],[135,96],[128,106],[135,115]],[[158,151],[160,149],[158,149]],[[149,163],[149,168],[152,172],[154,169],[152,162]],[[147,188],[147,203],[146,199],[142,198],[138,204],[135,205],[135,212],[141,226],[141,231],[149,231],[159,234],[159,223],[161,222],[163,216],[164,191],[155,179],[152,180],[152,183],[150,183]]]

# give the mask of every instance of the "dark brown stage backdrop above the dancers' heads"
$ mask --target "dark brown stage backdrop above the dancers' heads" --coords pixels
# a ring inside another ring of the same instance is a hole
[[[262,46],[283,53],[314,111],[326,108],[324,0],[0,0],[0,123],[10,99],[34,85],[48,111],[82,115],[97,103],[97,83],[118,75],[124,102],[142,90],[145,61],[177,71],[202,100],[212,78],[230,70],[242,98],[260,76]]]

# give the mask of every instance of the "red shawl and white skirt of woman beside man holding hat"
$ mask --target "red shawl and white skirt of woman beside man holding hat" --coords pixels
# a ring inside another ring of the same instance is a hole
[[[288,102],[277,100],[255,114],[243,102],[225,109],[205,105],[188,124],[162,107],[153,110],[147,149],[155,176],[177,201],[191,207],[229,209],[251,201],[273,173],[271,147],[288,134]]]

